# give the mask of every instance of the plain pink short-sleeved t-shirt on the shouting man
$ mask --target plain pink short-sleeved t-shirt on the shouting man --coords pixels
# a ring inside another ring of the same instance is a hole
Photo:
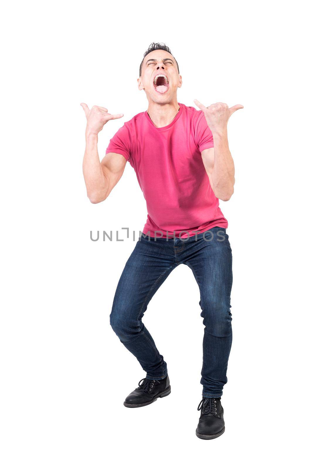
[[[136,114],[105,152],[119,153],[133,166],[148,210],[142,232],[150,236],[187,238],[228,227],[201,158],[202,150],[214,146],[212,132],[202,111],[178,104],[165,127],[157,128],[147,111]]]

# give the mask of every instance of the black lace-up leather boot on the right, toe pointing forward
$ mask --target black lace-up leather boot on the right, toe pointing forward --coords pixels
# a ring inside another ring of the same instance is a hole
[[[202,439],[213,439],[225,431],[224,409],[220,397],[204,397],[198,405],[201,410],[196,435]]]

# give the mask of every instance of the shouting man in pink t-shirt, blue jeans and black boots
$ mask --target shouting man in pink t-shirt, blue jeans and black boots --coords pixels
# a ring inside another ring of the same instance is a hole
[[[90,201],[97,204],[108,197],[129,161],[147,202],[148,219],[119,279],[110,315],[119,340],[147,373],[124,405],[146,406],[171,393],[167,365],[142,317],[171,271],[188,265],[199,285],[205,325],[196,435],[213,439],[225,430],[221,396],[232,339],[232,256],[218,199],[229,200],[233,194],[227,122],[243,106],[205,107],[195,99],[198,111],[179,103],[178,63],[159,43],[152,43],[144,54],[137,81],[148,98],[148,110],[116,132],[101,163],[97,134],[107,121],[123,114],[81,104],[87,118],[83,174]]]

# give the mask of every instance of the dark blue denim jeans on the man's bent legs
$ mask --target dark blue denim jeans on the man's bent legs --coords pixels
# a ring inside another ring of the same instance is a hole
[[[119,279],[110,324],[146,371],[147,378],[165,378],[166,363],[142,317],[152,296],[179,264],[191,268],[200,289],[199,304],[205,326],[202,395],[220,397],[227,382],[232,340],[232,255],[225,228],[214,227],[189,239],[149,239],[142,234]]]

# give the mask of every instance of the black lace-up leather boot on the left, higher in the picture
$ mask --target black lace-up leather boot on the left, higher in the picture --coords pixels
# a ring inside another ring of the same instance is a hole
[[[171,393],[170,379],[168,376],[159,380],[142,378],[138,385],[139,387],[136,387],[125,399],[125,407],[148,406],[158,397],[168,396]]]

